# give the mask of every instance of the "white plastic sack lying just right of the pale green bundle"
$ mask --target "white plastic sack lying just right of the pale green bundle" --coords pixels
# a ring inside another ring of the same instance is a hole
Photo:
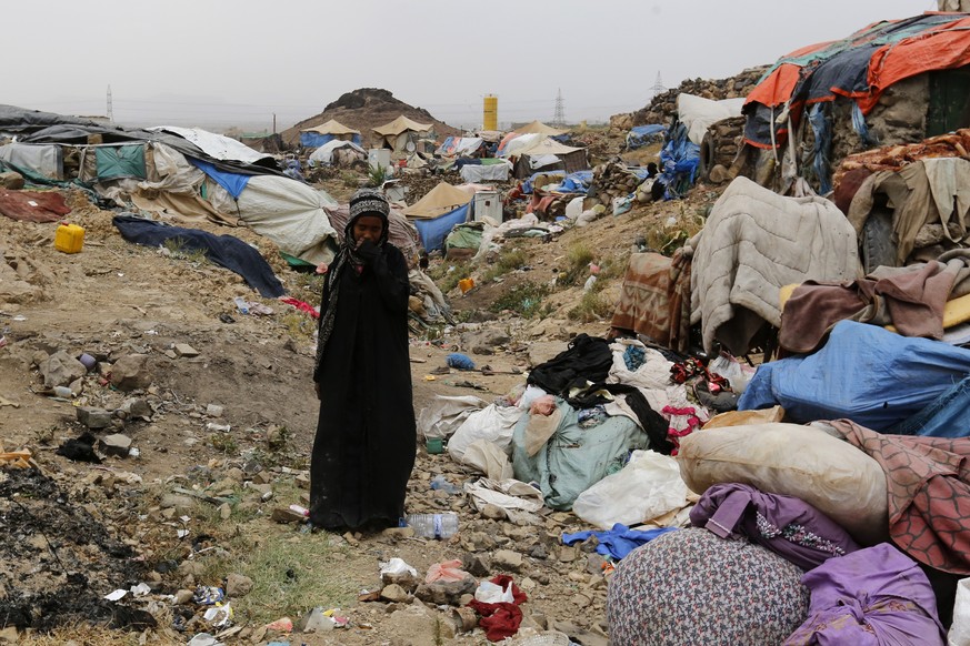
[[[576,498],[577,516],[602,529],[636,525],[687,504],[687,485],[677,461],[654,451],[634,451],[621,471],[608,475]]]

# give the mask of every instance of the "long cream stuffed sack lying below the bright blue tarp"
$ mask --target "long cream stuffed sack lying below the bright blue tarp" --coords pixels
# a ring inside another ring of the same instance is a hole
[[[720,483],[796,496],[862,545],[888,537],[886,474],[879,463],[821,428],[752,424],[711,428],[680,441],[680,474],[703,494]]]

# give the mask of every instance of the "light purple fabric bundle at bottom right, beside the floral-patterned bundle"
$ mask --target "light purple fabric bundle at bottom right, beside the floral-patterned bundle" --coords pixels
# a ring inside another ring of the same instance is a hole
[[[832,558],[806,573],[809,618],[784,646],[942,646],[937,599],[919,565],[889,543]]]

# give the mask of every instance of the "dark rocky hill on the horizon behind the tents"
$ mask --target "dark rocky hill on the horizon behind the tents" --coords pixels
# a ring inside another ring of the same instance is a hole
[[[393,121],[403,114],[419,123],[433,123],[434,133],[439,138],[458,134],[460,131],[443,121],[439,121],[423,108],[416,108],[397,99],[388,90],[379,88],[360,88],[352,92],[346,92],[337,101],[329,103],[323,112],[300,121],[282,133],[283,141],[294,145],[300,140],[300,130],[320,125],[331,119],[336,119],[348,128],[360,131],[364,147],[373,140],[372,129]]]

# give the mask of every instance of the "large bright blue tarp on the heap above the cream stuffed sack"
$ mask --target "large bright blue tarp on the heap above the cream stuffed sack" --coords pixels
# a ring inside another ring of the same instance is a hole
[[[968,350],[841,321],[817,353],[759,366],[738,410],[778,404],[792,422],[847,417],[882,432],[922,412],[968,374]]]

